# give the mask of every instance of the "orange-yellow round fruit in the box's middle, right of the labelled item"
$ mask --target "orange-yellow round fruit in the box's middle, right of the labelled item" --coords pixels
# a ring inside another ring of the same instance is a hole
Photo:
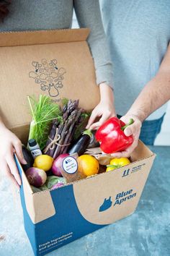
[[[91,155],[81,155],[77,158],[78,171],[84,176],[91,176],[98,174],[99,172],[99,162],[94,156]]]

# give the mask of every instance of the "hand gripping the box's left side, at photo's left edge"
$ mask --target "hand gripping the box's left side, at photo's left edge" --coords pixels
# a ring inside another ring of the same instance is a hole
[[[6,127],[0,129],[0,142],[0,171],[19,188],[22,182],[14,161],[14,153],[17,154],[20,163],[27,163],[22,154],[22,142]]]

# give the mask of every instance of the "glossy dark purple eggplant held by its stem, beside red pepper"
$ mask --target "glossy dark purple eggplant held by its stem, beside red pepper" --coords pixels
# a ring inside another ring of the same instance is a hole
[[[84,131],[82,135],[76,140],[76,142],[68,150],[68,154],[77,153],[79,156],[83,155],[88,148],[91,141],[92,133],[89,129]]]

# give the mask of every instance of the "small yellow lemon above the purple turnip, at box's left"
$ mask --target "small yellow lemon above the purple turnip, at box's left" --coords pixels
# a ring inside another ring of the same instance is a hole
[[[38,155],[33,164],[34,167],[49,171],[53,165],[53,158],[50,155]]]

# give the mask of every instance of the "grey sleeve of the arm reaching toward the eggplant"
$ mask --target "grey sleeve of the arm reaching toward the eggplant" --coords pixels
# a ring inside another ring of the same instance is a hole
[[[74,9],[80,27],[89,27],[91,33],[87,42],[94,59],[97,85],[106,82],[113,88],[113,67],[109,45],[102,25],[98,0],[74,0]]]

